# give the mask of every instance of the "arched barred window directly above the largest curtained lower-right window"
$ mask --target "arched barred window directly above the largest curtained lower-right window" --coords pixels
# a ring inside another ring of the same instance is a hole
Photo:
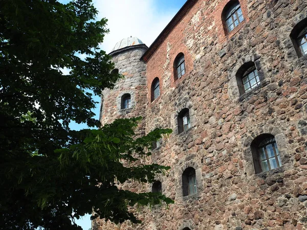
[[[250,61],[242,65],[236,73],[236,80],[240,95],[259,85],[260,79],[255,63]]]

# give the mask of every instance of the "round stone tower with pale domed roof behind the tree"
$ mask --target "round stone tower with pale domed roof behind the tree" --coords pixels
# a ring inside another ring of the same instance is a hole
[[[137,37],[117,42],[112,52],[115,69],[124,76],[114,89],[102,92],[100,122],[111,123],[117,118],[145,116],[146,64],[141,57],[148,47]],[[143,124],[140,124],[142,127]]]

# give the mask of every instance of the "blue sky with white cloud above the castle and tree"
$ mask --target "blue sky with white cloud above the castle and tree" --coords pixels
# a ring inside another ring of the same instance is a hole
[[[107,28],[110,30],[101,48],[109,53],[116,42],[130,36],[138,37],[149,47],[185,2],[186,0],[93,0],[99,11],[97,19],[107,18]],[[100,103],[98,96],[94,99]],[[99,103],[93,110],[96,119],[99,118]],[[70,127],[75,130],[87,128],[85,124],[75,123],[71,123]],[[76,222],[83,230],[91,228],[90,216]]]

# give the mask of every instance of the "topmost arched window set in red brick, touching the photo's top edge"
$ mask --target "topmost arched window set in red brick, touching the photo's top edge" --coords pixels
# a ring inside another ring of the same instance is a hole
[[[242,9],[237,0],[232,0],[225,6],[222,13],[222,20],[224,30],[227,33],[230,33],[244,20]]]

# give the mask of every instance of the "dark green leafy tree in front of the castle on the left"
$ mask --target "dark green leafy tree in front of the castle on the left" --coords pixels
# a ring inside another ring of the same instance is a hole
[[[137,223],[129,206],[172,202],[116,187],[128,179],[152,182],[168,169],[135,163],[170,130],[136,138],[140,118],[102,128],[93,119],[93,94],[121,77],[98,48],[108,31],[96,14],[90,0],[0,0],[2,229],[81,229],[71,220],[92,208],[95,217]],[[71,121],[96,130],[70,130]]]

